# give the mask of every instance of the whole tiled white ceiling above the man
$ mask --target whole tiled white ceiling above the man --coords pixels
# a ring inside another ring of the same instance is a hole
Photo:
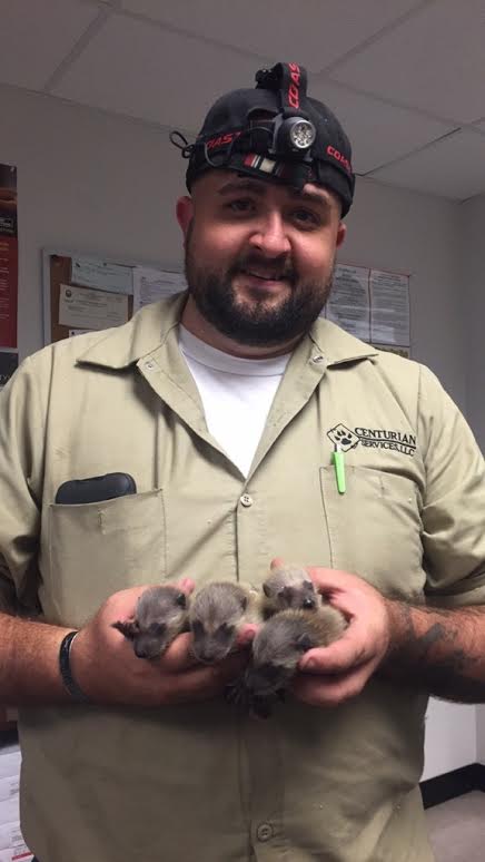
[[[221,92],[296,60],[358,175],[485,192],[485,0],[0,0],[0,82],[195,135]]]

